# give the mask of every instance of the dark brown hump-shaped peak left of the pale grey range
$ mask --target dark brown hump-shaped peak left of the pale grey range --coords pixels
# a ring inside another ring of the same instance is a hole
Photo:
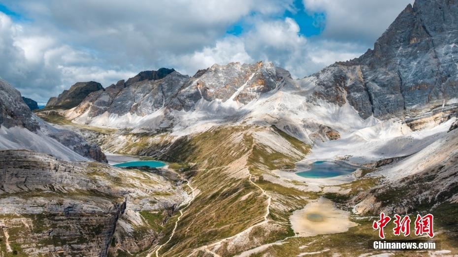
[[[103,90],[102,85],[95,81],[77,82],[70,87],[69,90],[64,90],[57,97],[51,97],[46,103],[48,109],[70,109],[78,105],[86,96],[92,92]]]

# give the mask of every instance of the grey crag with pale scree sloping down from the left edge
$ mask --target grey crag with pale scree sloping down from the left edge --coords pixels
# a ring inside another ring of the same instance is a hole
[[[82,161],[86,157],[106,162],[105,155],[95,144],[38,118],[22,100],[19,91],[1,79],[0,125],[5,130],[0,134],[0,149],[32,149],[65,160]]]

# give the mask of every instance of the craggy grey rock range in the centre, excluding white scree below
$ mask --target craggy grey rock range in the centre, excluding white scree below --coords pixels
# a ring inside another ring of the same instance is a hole
[[[189,111],[200,99],[211,102],[236,101],[242,105],[277,87],[289,73],[271,63],[214,64],[193,77],[173,69],[143,71],[127,82],[119,81],[104,91],[92,93],[69,115],[84,119],[103,113],[145,116],[159,109]]]

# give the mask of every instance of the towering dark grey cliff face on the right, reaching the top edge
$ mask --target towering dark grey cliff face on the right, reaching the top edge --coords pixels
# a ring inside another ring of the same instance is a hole
[[[458,3],[416,0],[360,58],[314,74],[321,97],[362,118],[403,115],[458,96]]]

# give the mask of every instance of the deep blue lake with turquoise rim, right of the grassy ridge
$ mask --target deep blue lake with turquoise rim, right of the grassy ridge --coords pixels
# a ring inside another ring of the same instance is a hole
[[[315,161],[309,170],[297,172],[303,178],[331,178],[340,175],[347,175],[356,170],[356,167],[337,163],[334,161]]]

